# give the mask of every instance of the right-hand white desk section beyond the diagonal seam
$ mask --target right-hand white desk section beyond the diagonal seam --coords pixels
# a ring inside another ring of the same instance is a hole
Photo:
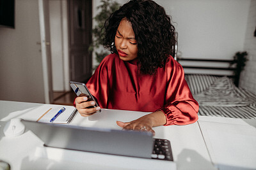
[[[256,169],[256,120],[200,117],[198,124],[218,169]]]

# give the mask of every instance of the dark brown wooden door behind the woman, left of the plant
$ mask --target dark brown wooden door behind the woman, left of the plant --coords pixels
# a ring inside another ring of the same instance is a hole
[[[84,82],[92,76],[92,0],[69,0],[70,79]]]

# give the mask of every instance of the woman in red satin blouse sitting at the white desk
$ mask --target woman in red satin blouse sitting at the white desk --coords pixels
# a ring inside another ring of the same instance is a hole
[[[198,103],[184,71],[170,55],[175,28],[164,8],[150,0],[132,0],[106,20],[104,46],[111,51],[86,84],[101,108],[152,112],[124,129],[150,131],[159,125],[185,125],[198,120]],[[87,117],[100,107],[77,97],[77,110]]]

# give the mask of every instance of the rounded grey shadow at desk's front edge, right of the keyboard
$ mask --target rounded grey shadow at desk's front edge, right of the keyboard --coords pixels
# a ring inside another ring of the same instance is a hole
[[[200,163],[198,163],[200,160]],[[180,162],[180,163],[179,163]],[[200,154],[195,152],[194,150],[184,149],[177,156],[177,169],[208,169],[212,167],[212,162],[204,159]]]

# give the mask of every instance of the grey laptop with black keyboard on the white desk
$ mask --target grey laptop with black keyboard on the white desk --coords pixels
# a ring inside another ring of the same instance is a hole
[[[49,124],[21,120],[45,146],[146,159],[171,160],[170,141],[154,139],[151,132]]]

